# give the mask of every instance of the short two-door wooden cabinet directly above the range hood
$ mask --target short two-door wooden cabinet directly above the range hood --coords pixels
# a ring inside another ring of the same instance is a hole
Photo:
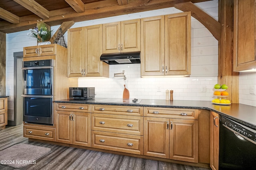
[[[140,51],[140,19],[103,24],[103,53]]]

